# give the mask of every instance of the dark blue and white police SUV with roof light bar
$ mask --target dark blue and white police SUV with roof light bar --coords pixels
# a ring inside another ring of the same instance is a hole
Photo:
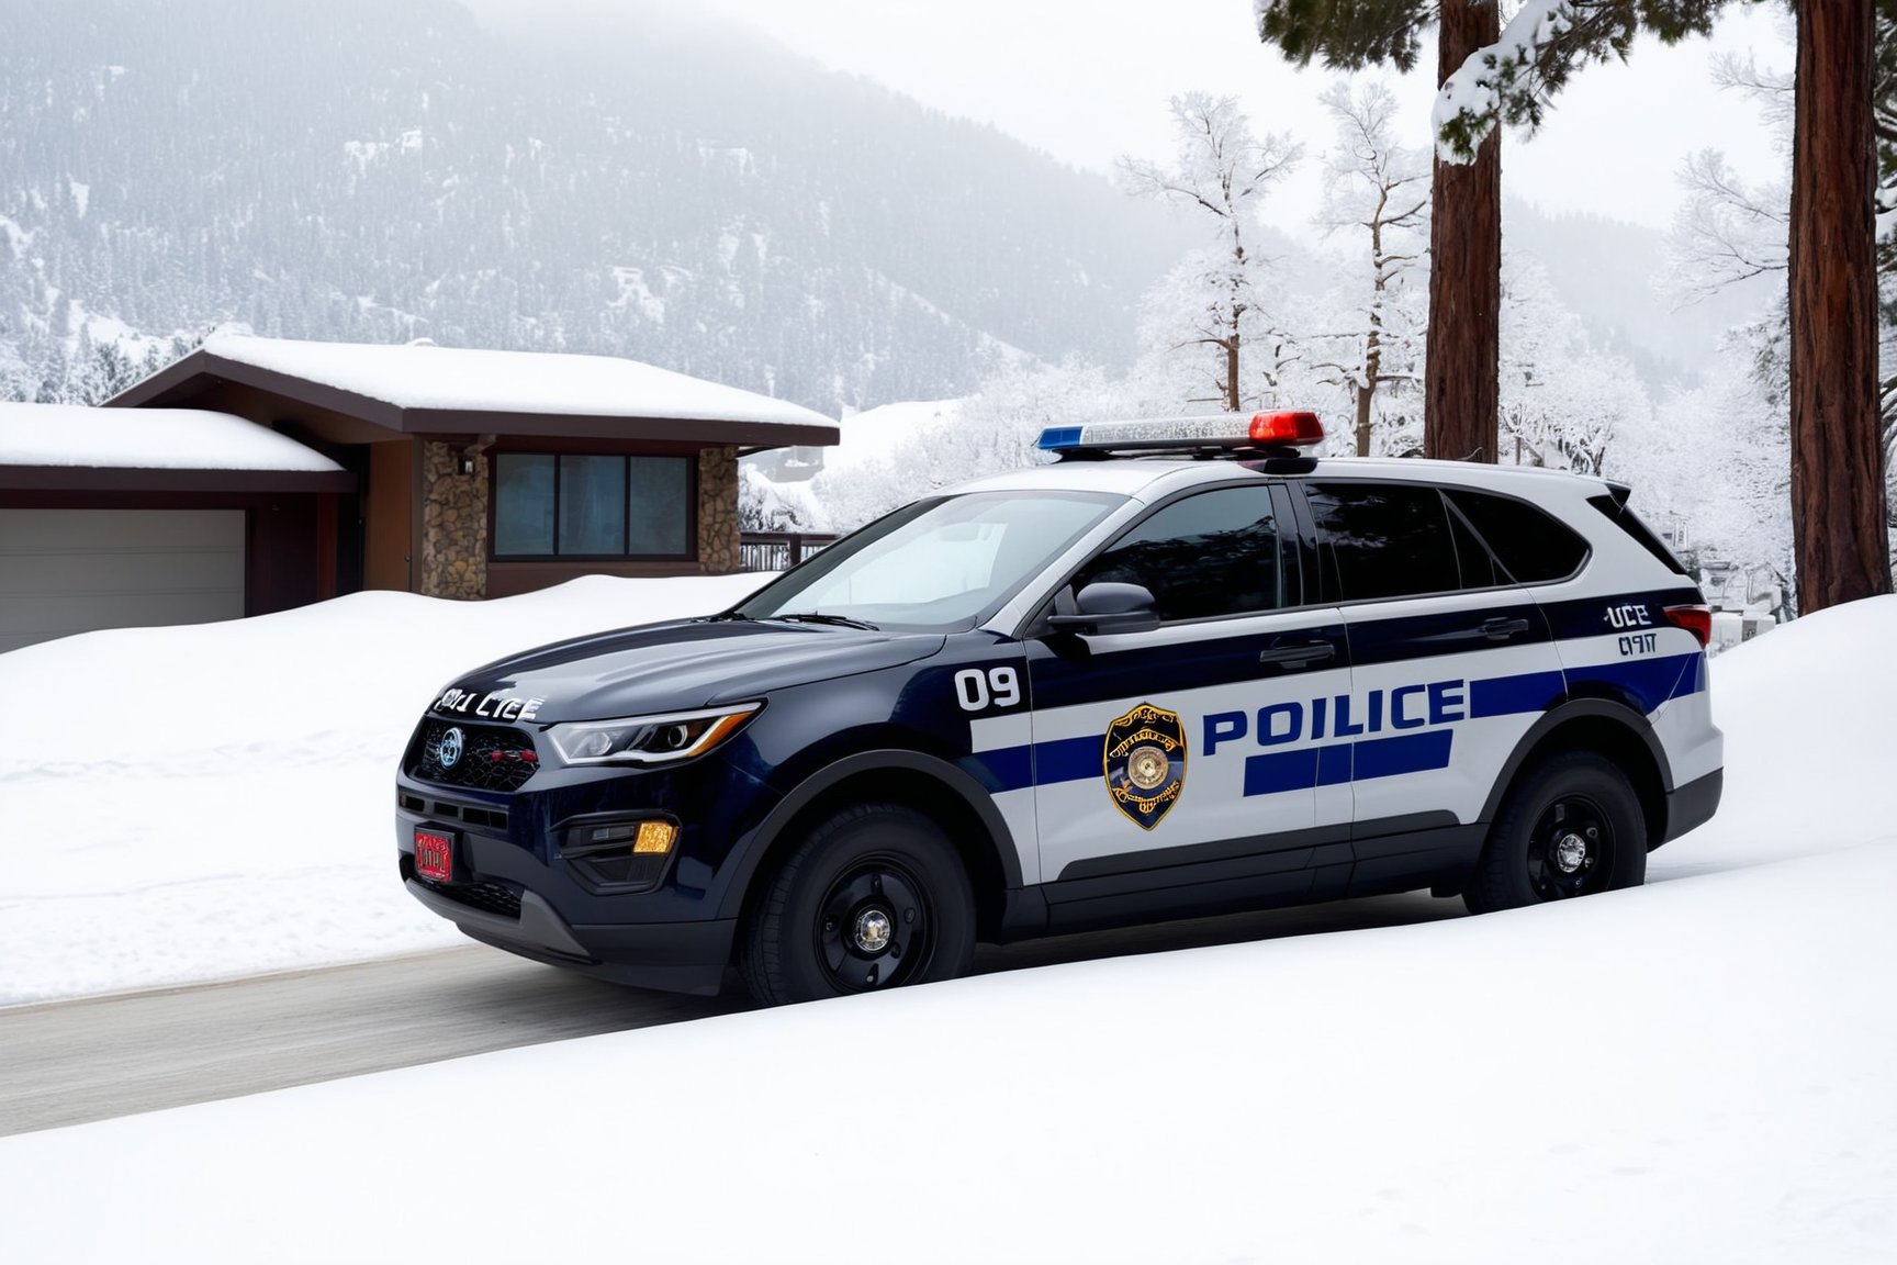
[[[1709,613],[1597,478],[1309,459],[1313,413],[1047,431],[747,601],[429,707],[400,872],[497,948],[763,1001],[977,941],[1645,878],[1713,816]]]

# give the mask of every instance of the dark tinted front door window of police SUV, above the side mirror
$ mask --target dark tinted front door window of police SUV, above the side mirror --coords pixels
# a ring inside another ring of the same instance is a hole
[[[1220,487],[1174,501],[1074,577],[1144,584],[1161,620],[1275,611],[1284,605],[1284,546],[1271,487]]]

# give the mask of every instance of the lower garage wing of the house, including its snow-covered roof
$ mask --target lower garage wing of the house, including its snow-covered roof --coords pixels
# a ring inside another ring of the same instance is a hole
[[[355,487],[243,417],[0,404],[0,652],[315,601]]]

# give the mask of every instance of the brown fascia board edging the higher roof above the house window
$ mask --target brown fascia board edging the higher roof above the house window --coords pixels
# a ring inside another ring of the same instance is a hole
[[[167,370],[159,370],[106,400],[108,408],[167,408],[190,398],[199,377],[233,381],[267,391],[300,404],[326,408],[402,434],[524,434],[575,440],[685,440],[742,444],[755,451],[793,444],[827,446],[842,438],[838,427],[785,427],[763,421],[683,421],[679,417],[615,417],[590,413],[506,413],[459,408],[396,408],[353,391],[326,387],[305,377],[260,370],[193,351]]]

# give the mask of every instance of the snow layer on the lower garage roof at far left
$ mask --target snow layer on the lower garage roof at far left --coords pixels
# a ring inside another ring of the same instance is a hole
[[[80,404],[0,404],[0,467],[341,470],[322,453],[230,413]]]

